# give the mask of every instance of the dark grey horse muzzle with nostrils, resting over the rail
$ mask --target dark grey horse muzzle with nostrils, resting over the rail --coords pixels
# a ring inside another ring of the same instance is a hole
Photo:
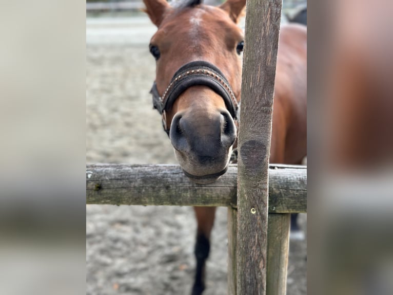
[[[199,118],[190,113],[173,117],[170,140],[184,174],[197,183],[211,183],[228,167],[236,127],[225,109]]]

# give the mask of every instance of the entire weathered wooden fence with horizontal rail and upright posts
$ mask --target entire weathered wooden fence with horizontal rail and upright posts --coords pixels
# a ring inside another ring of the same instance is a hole
[[[286,293],[290,213],[306,212],[307,169],[268,164],[281,7],[247,1],[238,165],[220,180],[196,185],[176,165],[86,167],[87,204],[228,207],[231,295]]]

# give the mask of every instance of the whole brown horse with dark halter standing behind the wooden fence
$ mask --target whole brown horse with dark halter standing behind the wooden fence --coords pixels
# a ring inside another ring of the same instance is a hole
[[[151,93],[185,175],[209,183],[225,173],[236,147],[244,35],[237,23],[246,0],[219,7],[200,0],[176,7],[144,0],[158,27],[150,52],[156,59]],[[297,164],[306,155],[306,28],[281,29],[270,160]],[[215,208],[195,207],[197,271],[192,289],[205,288],[205,262]]]

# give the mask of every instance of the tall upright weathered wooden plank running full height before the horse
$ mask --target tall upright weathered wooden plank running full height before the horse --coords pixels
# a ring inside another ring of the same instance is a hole
[[[247,1],[238,143],[238,294],[266,294],[268,163],[281,4]]]

